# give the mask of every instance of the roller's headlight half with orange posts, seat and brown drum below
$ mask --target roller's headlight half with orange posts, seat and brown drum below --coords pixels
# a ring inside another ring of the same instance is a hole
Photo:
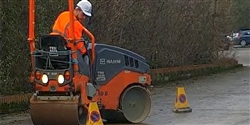
[[[65,1],[66,2],[66,1]],[[70,12],[70,35],[45,34],[35,46],[35,0],[28,0],[28,44],[30,49],[31,74],[34,94],[30,98],[30,114],[34,125],[82,125],[87,116],[87,105],[92,98],[87,96],[89,76],[79,72],[74,46],[74,0],[68,0]],[[94,36],[84,28],[90,39],[90,68],[93,65]],[[65,43],[71,48],[66,49]],[[87,69],[86,69],[87,70]],[[92,87],[93,88],[93,87]]]

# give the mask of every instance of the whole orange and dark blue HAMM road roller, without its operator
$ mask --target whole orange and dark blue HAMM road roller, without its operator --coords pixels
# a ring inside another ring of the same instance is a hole
[[[73,0],[66,1],[70,37],[43,34],[36,39],[35,1],[28,1],[33,124],[84,125],[90,102],[96,102],[106,122],[143,122],[151,109],[151,76],[146,59],[128,49],[95,43],[95,37],[86,28],[83,33],[88,38],[85,43],[88,54],[77,54]],[[65,47],[65,42],[71,49]]]

